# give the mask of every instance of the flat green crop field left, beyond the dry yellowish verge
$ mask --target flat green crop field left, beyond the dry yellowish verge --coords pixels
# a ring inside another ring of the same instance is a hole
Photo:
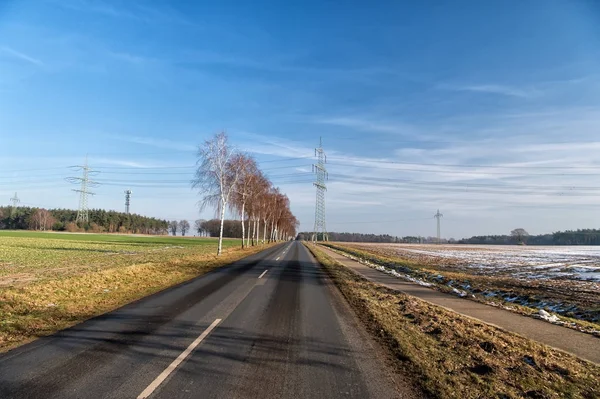
[[[225,249],[240,245],[223,241]],[[0,286],[216,251],[213,238],[0,231]]]

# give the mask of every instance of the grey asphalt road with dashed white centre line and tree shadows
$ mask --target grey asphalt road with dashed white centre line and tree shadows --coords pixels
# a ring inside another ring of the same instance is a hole
[[[0,355],[0,398],[420,397],[300,243]]]

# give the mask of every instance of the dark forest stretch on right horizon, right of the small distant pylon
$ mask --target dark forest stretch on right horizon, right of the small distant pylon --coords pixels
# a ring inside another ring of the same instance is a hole
[[[580,229],[558,231],[552,234],[528,235],[516,229],[510,235],[474,236],[459,240],[459,244],[488,245],[600,245],[600,230]],[[520,234],[521,233],[521,234]]]

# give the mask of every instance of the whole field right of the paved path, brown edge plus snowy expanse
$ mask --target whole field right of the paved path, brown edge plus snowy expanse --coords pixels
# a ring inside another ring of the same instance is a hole
[[[400,278],[600,335],[600,247],[331,245]]]

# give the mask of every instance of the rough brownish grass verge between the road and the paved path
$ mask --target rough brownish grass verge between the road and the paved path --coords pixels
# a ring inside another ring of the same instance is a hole
[[[373,284],[307,246],[398,369],[432,397],[600,397],[600,366]]]

